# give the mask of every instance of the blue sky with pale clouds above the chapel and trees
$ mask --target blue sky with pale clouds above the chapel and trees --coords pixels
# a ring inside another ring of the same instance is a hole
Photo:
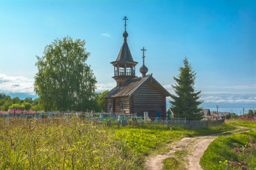
[[[98,90],[115,86],[113,66],[124,16],[136,74],[146,66],[170,93],[187,55],[203,107],[256,109],[256,1],[0,1],[0,93],[33,95],[37,68],[53,39],[85,39]]]

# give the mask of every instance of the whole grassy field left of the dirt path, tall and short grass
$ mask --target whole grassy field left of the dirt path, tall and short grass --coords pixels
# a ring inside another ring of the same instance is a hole
[[[208,131],[232,128],[222,126]],[[143,169],[145,155],[198,134],[202,130],[105,128],[77,117],[1,118],[0,169]]]

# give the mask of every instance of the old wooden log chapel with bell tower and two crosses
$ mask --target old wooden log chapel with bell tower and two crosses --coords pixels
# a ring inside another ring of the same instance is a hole
[[[132,54],[127,44],[128,33],[126,30],[127,17],[124,17],[124,43],[118,53],[116,61],[111,62],[114,66],[113,79],[116,80],[116,87],[110,90],[105,98],[105,112],[116,113],[137,113],[143,116],[143,112],[148,112],[149,117],[165,117],[166,96],[170,93],[154,79],[152,74],[146,75],[148,68],[144,63],[140,67],[141,77],[135,76],[135,66],[138,62],[133,61]]]

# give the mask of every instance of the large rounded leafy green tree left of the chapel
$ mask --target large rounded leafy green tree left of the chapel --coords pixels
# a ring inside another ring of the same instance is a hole
[[[95,104],[97,80],[86,64],[86,42],[56,39],[37,56],[34,90],[45,110],[86,110]]]

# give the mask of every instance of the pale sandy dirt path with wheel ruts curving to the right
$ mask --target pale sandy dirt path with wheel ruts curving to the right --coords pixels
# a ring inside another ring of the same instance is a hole
[[[244,129],[244,127],[238,126],[236,131]],[[249,128],[250,130],[251,128]],[[248,131],[249,131],[248,130]],[[230,134],[239,134],[245,131],[230,131]],[[147,170],[160,170],[163,168],[163,163],[166,158],[173,157],[173,153],[177,150],[188,150],[189,154],[187,155],[187,167],[184,169],[189,170],[200,170],[202,169],[199,162],[200,158],[203,156],[203,152],[207,149],[208,145],[214,141],[219,135],[225,135],[227,132],[222,134],[214,134],[209,136],[196,136],[192,138],[183,138],[180,142],[174,142],[167,145],[167,149],[170,151],[162,155],[150,155],[146,161],[145,169]],[[203,170],[203,169],[202,169]]]

